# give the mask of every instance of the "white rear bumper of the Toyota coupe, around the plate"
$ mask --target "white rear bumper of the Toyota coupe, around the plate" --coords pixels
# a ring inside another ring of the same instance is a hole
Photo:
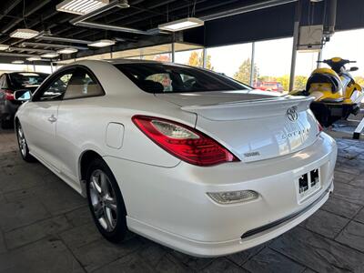
[[[105,159],[125,199],[129,229],[190,255],[215,257],[276,238],[312,215],[333,189],[336,157],[335,141],[322,133],[295,154],[248,164],[165,168]],[[321,187],[301,200],[298,177],[316,168]],[[220,205],[206,194],[244,189],[258,199]]]

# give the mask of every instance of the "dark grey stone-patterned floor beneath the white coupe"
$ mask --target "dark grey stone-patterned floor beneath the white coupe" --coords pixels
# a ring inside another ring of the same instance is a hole
[[[86,199],[0,131],[0,272],[364,272],[364,143],[338,140],[335,192],[308,220],[263,246],[192,258],[130,233],[97,233]]]

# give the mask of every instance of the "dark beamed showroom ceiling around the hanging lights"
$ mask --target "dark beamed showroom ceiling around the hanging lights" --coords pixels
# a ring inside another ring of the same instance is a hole
[[[133,28],[140,31],[140,33],[137,33],[137,31],[130,33],[73,25],[71,22],[78,15],[57,11],[56,5],[61,2],[61,0],[3,0],[0,6],[0,44],[10,45],[11,48],[6,51],[5,55],[4,52],[0,53],[0,58],[2,60],[12,57],[18,59],[20,57],[19,54],[28,56],[40,55],[40,53],[43,53],[42,50],[45,52],[47,50],[57,50],[62,45],[76,46],[79,50],[78,53],[72,56],[62,56],[63,59],[101,54],[113,50],[111,47],[97,50],[87,48],[87,41],[99,39],[116,40],[114,50],[116,48],[120,50],[123,45],[126,45],[126,48],[161,45],[169,43],[173,36],[157,32],[153,33],[153,35],[148,35],[145,31],[156,29],[159,24],[191,15],[197,17],[213,15],[267,1],[129,0],[127,1],[127,4],[130,5],[128,8],[114,7],[86,20],[87,23]],[[45,35],[30,40],[10,37],[10,34],[18,28],[31,28],[45,33]],[[49,37],[46,37],[49,35],[60,37],[61,39],[49,40]]]

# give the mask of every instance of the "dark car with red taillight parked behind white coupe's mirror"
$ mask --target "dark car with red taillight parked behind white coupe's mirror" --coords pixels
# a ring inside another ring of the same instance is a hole
[[[14,116],[21,102],[14,99],[16,90],[31,92],[45,80],[48,74],[35,72],[11,72],[0,76],[0,125],[9,128],[14,125]]]

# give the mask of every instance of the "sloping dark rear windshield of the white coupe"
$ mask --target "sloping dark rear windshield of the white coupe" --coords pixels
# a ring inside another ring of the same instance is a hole
[[[148,93],[183,93],[251,89],[227,76],[204,69],[165,64],[115,65],[136,86]]]

